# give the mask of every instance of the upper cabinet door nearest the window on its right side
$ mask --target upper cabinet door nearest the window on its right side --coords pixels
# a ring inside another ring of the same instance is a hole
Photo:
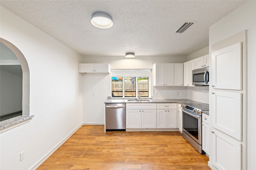
[[[156,64],[155,66],[156,70],[155,70],[155,85],[156,86],[165,86],[165,76],[166,76],[166,73],[165,73],[165,64],[164,63],[160,63],[160,64]]]

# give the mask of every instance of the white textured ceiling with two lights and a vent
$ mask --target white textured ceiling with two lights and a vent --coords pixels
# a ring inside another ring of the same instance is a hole
[[[83,56],[188,55],[208,46],[209,27],[242,0],[1,0],[1,5]],[[90,23],[96,11],[114,25]],[[185,21],[195,21],[175,33]]]

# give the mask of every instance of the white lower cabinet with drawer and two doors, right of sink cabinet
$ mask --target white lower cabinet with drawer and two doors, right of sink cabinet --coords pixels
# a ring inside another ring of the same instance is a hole
[[[177,104],[156,104],[156,128],[177,128]]]

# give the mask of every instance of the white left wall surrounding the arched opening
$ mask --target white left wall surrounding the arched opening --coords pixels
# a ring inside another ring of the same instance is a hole
[[[0,134],[0,169],[34,169],[82,125],[81,56],[1,6],[1,38],[14,44],[30,69],[32,120]],[[20,161],[20,152],[25,159]]]

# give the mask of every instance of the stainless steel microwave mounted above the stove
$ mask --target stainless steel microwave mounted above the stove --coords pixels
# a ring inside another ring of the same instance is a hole
[[[192,84],[209,86],[209,67],[192,70]]]

